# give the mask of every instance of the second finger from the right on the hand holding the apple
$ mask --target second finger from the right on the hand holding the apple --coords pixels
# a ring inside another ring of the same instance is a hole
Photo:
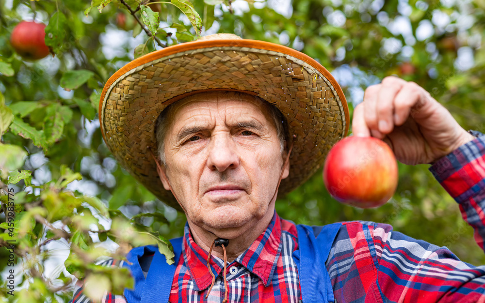
[[[398,77],[385,77],[377,94],[377,125],[379,132],[389,134],[394,128],[394,99],[407,82]]]

